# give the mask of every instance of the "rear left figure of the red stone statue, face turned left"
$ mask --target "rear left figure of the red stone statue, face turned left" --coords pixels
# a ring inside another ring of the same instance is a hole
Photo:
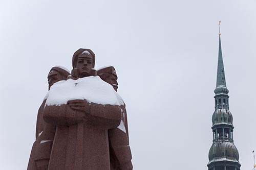
[[[52,67],[48,74],[49,90],[54,83],[61,80],[66,80],[69,75],[70,72],[66,68],[60,66]],[[29,158],[29,170],[48,169],[56,127],[54,125],[46,123],[45,120],[42,118],[45,103],[46,99],[44,99],[44,101],[42,102],[37,114],[35,135],[36,140],[33,143]]]

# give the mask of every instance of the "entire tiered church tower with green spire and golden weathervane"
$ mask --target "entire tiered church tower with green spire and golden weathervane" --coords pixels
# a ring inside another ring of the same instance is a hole
[[[211,127],[213,140],[208,155],[208,170],[240,170],[238,149],[233,143],[233,117],[229,111],[229,91],[226,86],[220,27],[217,82],[214,92],[215,112],[212,115]]]

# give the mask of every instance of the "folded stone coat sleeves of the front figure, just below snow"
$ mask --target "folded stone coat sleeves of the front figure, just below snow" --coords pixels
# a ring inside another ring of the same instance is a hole
[[[46,106],[44,110],[45,121],[56,126],[70,126],[89,120],[96,126],[111,129],[120,124],[121,115],[120,106],[88,102],[86,102],[84,112],[76,111],[69,105]]]

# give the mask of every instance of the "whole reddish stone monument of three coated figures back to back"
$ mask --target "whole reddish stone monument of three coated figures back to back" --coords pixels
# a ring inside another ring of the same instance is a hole
[[[97,76],[95,54],[89,49],[77,50],[72,65],[71,75],[60,67],[50,70],[49,98],[54,94],[58,96],[56,89],[63,87],[60,84],[66,82],[54,84],[57,81],[73,79],[76,82],[80,78]],[[65,71],[66,74],[63,74]],[[103,83],[100,90],[116,93],[118,83],[115,68],[106,67],[99,72],[102,79],[99,81]],[[109,85],[106,87],[105,82],[111,84],[114,90]],[[76,85],[74,83],[76,89],[84,88],[81,84]],[[55,93],[52,93],[51,86]],[[91,92],[96,92],[97,87]],[[90,101],[91,98],[86,96],[82,96],[82,99],[79,96],[56,105],[47,102],[47,96],[38,111],[36,141],[28,169],[133,169],[123,102],[101,104]],[[118,98],[119,95],[116,93],[114,96]]]

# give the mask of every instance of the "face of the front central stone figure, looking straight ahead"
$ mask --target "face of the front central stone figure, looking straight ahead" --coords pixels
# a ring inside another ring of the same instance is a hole
[[[90,76],[90,72],[93,68],[93,60],[90,56],[79,55],[76,68],[80,77]]]

